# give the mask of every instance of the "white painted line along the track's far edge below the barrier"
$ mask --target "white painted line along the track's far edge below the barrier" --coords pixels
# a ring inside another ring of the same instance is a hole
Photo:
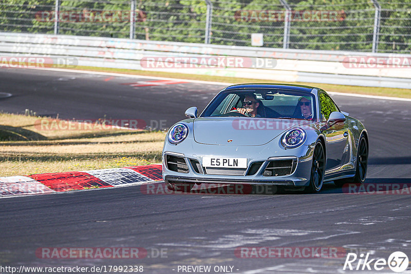
[[[209,82],[209,81],[166,78],[166,77],[157,77],[157,76],[145,76],[145,75],[136,75],[136,74],[123,74],[123,73],[113,73],[113,72],[103,72],[103,71],[87,71],[87,70],[56,69],[56,68],[28,68],[28,69],[51,70],[51,71],[73,72],[73,73],[84,73],[84,74],[97,74],[97,75],[129,77],[129,78],[137,78],[137,79],[147,78],[147,79],[171,80],[171,81],[180,80],[180,81],[189,82],[189,83],[209,84],[209,85],[218,85],[218,86],[231,86],[231,85],[234,85],[233,83]],[[367,87],[364,87],[364,88],[367,88]],[[363,98],[370,98],[370,99],[382,99],[382,100],[411,102],[411,99],[400,98],[400,97],[376,96],[376,95],[366,95],[366,94],[357,94],[357,93],[343,93],[343,92],[333,92],[333,91],[327,91],[327,93],[329,93],[331,95],[342,95],[342,96],[363,97]]]

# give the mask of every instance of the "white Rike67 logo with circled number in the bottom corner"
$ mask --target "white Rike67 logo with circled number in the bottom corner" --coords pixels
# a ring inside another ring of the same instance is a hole
[[[396,251],[391,253],[388,260],[383,258],[380,259],[369,259],[369,252],[364,255],[360,253],[357,256],[356,253],[348,253],[345,259],[343,270],[384,270],[389,267],[389,269],[394,272],[402,272],[407,269],[409,261],[408,257],[404,252]]]

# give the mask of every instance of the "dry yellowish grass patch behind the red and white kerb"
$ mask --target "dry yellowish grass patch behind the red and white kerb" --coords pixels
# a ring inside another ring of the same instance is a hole
[[[0,177],[161,162],[164,132],[41,130],[39,119],[0,113]]]

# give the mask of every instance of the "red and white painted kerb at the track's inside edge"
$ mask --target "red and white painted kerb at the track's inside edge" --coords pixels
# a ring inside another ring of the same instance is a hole
[[[159,164],[0,177],[0,198],[71,190],[146,184],[161,181]]]

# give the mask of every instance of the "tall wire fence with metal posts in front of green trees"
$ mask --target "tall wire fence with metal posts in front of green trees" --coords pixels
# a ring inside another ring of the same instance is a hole
[[[411,53],[411,2],[2,0],[0,31]]]

